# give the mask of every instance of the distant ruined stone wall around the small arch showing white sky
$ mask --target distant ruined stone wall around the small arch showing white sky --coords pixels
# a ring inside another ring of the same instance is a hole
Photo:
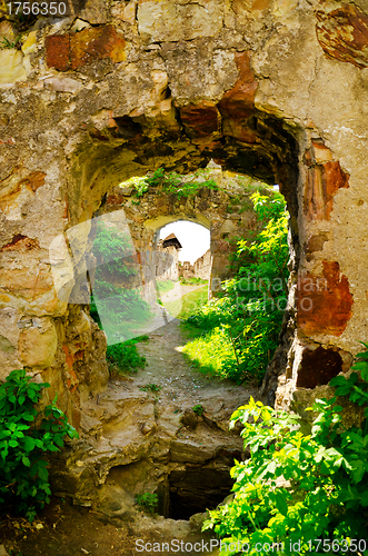
[[[260,225],[250,201],[255,188],[245,189],[221,170],[208,172],[207,179],[215,179],[218,189],[202,187],[197,195],[181,198],[155,187],[137,197],[133,187],[117,186],[103,197],[96,215],[123,210],[135,248],[141,252],[156,249],[158,232],[168,224],[187,220],[207,228],[210,231],[212,259],[211,295],[220,289],[222,280],[231,277],[229,257],[236,248],[236,238],[250,237],[251,231],[259,229]],[[260,183],[257,187],[262,191]],[[267,193],[267,190],[263,192]],[[143,282],[147,282],[149,275],[148,270],[142,270],[146,277]]]

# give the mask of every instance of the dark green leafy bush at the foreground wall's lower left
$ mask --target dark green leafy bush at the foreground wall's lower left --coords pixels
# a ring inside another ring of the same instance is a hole
[[[54,401],[37,413],[34,404],[49,386],[31,383],[23,369],[10,373],[0,386],[0,503],[29,520],[50,502],[44,455],[59,451],[66,435],[78,437]]]

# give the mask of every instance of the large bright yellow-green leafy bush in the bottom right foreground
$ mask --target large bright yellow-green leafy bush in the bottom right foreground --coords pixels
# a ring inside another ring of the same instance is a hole
[[[368,351],[358,357],[360,377],[334,378],[335,397],[309,408],[318,414],[309,434],[299,415],[252,398],[235,411],[250,458],[236,461],[235,497],[203,526],[222,537],[221,555],[241,553],[239,546],[255,556],[269,546],[292,556],[368,554]],[[346,428],[338,397],[361,407],[358,426]]]

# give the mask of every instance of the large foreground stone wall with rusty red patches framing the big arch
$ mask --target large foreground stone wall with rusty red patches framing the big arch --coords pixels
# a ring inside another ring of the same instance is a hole
[[[58,298],[49,246],[129,177],[211,158],[279,183],[291,215],[269,397],[281,371],[289,393],[308,384],[310,351],[351,359],[368,341],[367,21],[362,1],[98,0],[0,50],[2,378],[42,370],[78,426],[80,399],[106,381],[103,338]]]

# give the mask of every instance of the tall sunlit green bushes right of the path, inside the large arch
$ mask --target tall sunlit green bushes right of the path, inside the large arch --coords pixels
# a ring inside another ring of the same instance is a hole
[[[251,196],[261,230],[239,239],[231,259],[235,278],[209,304],[189,316],[197,338],[185,347],[205,373],[237,383],[260,383],[278,345],[287,302],[287,221],[284,197]],[[197,331],[197,334],[196,334]]]

